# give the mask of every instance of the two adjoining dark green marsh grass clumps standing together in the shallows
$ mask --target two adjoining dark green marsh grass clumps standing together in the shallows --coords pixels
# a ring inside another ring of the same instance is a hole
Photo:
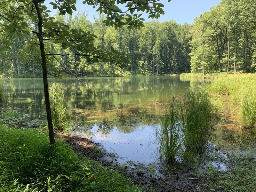
[[[191,161],[203,153],[214,132],[215,110],[205,90],[188,90],[181,101],[173,98],[156,130],[160,159],[173,165],[180,157]]]

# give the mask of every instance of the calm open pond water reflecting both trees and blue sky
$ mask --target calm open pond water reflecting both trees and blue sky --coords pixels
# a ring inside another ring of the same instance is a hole
[[[180,79],[179,76],[88,78],[83,79],[84,84],[75,78],[49,78],[48,81],[49,85],[52,82],[66,85],[68,110],[74,118],[79,114],[90,114],[90,120],[97,115],[95,118],[100,119],[100,123],[81,126],[73,134],[88,136],[90,131],[92,140],[102,143],[108,151],[117,153],[121,163],[129,160],[150,163],[156,160],[155,117],[164,111],[173,95],[182,96],[188,88],[198,89],[207,83],[203,79]],[[46,119],[43,79],[8,79],[5,92],[4,108],[16,109],[36,117],[40,114],[40,118]],[[135,123],[133,116],[125,119],[120,115],[118,121],[125,123],[108,121],[119,114],[115,111],[121,114],[121,110],[122,113],[129,111],[143,118]],[[151,121],[145,120],[147,116],[150,116]],[[86,122],[87,117],[79,121]],[[219,132],[226,133],[225,130]]]

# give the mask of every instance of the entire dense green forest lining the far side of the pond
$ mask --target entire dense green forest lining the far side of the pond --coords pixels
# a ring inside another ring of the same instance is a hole
[[[192,25],[154,20],[145,22],[145,27],[115,28],[106,24],[103,13],[95,16],[95,22],[91,23],[86,11],[73,16],[56,13],[54,18],[71,29],[82,29],[96,35],[94,46],[110,52],[113,47],[124,52],[130,62],[122,71],[103,60],[89,63],[79,56],[79,50],[66,49],[49,40],[46,44],[51,53],[71,54],[56,56],[58,61],[49,61],[48,71],[52,76],[57,76],[58,71],[81,76],[255,71],[256,2],[253,0],[222,0],[210,12],[196,17]],[[6,22],[3,18],[0,20]],[[27,22],[28,31],[36,29],[35,23]],[[41,77],[38,48],[31,47],[31,39],[36,35],[10,35],[4,31],[4,25],[0,26],[0,33],[2,75]]]

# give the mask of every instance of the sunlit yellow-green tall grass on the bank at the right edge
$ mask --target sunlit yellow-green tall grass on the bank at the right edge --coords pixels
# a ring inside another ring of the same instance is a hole
[[[252,128],[256,122],[256,74],[222,75],[207,88],[209,92],[228,95],[240,108],[241,126]]]

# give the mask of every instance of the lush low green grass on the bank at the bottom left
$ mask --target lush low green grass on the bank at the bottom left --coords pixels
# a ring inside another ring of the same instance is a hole
[[[0,124],[0,191],[140,191],[119,172],[35,130]]]

